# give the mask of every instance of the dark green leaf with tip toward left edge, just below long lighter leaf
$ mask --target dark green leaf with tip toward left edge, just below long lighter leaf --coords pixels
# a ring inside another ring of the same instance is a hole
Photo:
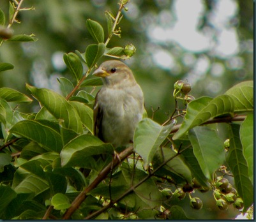
[[[56,130],[37,121],[17,122],[10,132],[26,137],[49,151],[60,152],[63,147],[61,135]]]

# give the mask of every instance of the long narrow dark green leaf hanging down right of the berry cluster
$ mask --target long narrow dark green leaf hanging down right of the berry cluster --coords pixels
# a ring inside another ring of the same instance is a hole
[[[248,177],[248,166],[243,155],[243,147],[239,138],[238,124],[230,124],[230,147],[227,163],[234,175],[235,186],[239,196],[243,199],[245,213],[253,203],[253,185]]]

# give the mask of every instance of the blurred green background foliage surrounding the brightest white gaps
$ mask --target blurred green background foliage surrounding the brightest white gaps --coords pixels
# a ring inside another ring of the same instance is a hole
[[[198,3],[197,0],[193,1]],[[174,108],[173,84],[179,79],[193,80],[192,94],[197,98],[222,94],[237,82],[253,78],[253,1],[232,1],[236,5],[233,14],[229,13],[229,8],[221,9],[227,11],[227,15],[230,14],[223,26],[234,29],[237,35],[239,49],[230,56],[218,56],[215,53],[222,29],[215,26],[213,20],[216,8],[221,7],[218,6],[221,1],[200,1],[203,10],[196,29],[208,35],[213,45],[206,50],[193,52],[176,41],[164,42],[152,38],[153,27],[169,29],[174,26],[177,22],[177,3],[181,2],[183,1],[130,1],[128,11],[124,11],[124,18],[119,24],[121,38],[114,37],[109,45],[124,47],[127,43],[133,43],[137,48],[135,56],[127,63],[142,86],[149,116],[152,113],[151,107],[156,110],[160,106],[160,110],[154,114],[158,122],[163,122],[166,119],[164,114],[172,112]],[[7,0],[0,2],[0,8],[5,12],[8,11],[8,5]],[[31,0],[24,1],[22,5],[27,8],[31,6],[35,10],[21,11],[18,16],[21,24],[14,24],[12,28],[15,34],[33,33],[39,40],[36,43],[4,43],[1,46],[0,61],[11,61],[15,69],[0,73],[0,86],[24,91],[25,82],[28,82],[57,90],[59,86],[56,77],[70,75],[66,68],[57,66],[57,63],[61,63],[61,55],[75,50],[84,52],[87,45],[93,43],[86,29],[87,18],[105,25],[105,29],[107,20],[103,12],[111,10],[116,13],[117,1]],[[181,13],[183,9],[186,13],[186,4],[179,9]],[[190,8],[190,11],[193,10]],[[192,14],[188,13],[188,20],[192,19],[190,15]],[[185,34],[189,34],[189,31],[184,31]],[[225,44],[229,45],[229,41]],[[157,63],[154,56],[162,50],[175,58],[175,66],[165,68]],[[209,64],[206,70],[198,74],[200,61],[208,61]]]

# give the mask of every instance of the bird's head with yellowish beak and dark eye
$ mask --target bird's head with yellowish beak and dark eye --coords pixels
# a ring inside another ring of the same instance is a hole
[[[102,77],[103,84],[112,87],[136,84],[132,70],[118,60],[105,61],[94,71],[93,75]]]

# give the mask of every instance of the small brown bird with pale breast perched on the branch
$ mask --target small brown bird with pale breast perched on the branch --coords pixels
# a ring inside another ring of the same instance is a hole
[[[121,61],[106,61],[94,71],[103,87],[94,103],[94,135],[114,147],[133,142],[133,133],[144,112],[144,96],[132,70]]]

